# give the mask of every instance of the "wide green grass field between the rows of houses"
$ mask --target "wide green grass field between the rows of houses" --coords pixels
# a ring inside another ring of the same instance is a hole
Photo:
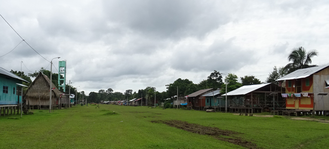
[[[100,105],[33,110],[33,115],[0,117],[0,148],[245,148],[210,135],[159,123],[167,120],[228,130],[264,149],[329,148],[329,124],[281,116]],[[113,112],[114,111],[114,112]],[[17,119],[9,119],[16,117]],[[201,126],[201,127],[202,127]],[[220,136],[230,138],[230,136]]]

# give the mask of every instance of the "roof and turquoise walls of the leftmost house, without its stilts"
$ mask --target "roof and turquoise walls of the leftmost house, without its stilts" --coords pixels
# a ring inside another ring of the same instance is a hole
[[[22,102],[21,86],[22,82],[28,82],[17,75],[0,67],[0,105],[14,105]],[[17,83],[17,84],[16,84]]]

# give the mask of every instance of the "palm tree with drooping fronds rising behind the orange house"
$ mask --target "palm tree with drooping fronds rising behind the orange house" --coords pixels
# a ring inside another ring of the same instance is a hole
[[[316,50],[311,50],[306,52],[303,47],[294,48],[288,55],[289,64],[284,67],[284,70],[289,74],[298,69],[315,67],[316,65],[311,65],[311,58],[317,56],[318,52]]]

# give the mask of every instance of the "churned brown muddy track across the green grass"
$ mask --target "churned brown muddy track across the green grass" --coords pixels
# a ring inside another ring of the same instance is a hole
[[[191,124],[184,121],[179,120],[156,120],[151,121],[152,123],[163,123],[171,127],[175,127],[178,129],[182,129],[191,133],[195,134],[201,134],[201,135],[210,135],[218,140],[230,142],[236,145],[240,145],[242,147],[250,148],[250,149],[260,149],[257,147],[255,143],[252,143],[250,141],[246,141],[243,138],[239,137],[238,134],[241,134],[239,132],[234,132],[230,130],[221,130],[217,127],[208,127],[208,126],[202,126],[198,124]]]

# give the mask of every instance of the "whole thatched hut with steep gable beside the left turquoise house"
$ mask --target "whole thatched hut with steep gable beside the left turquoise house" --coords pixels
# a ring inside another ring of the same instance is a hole
[[[50,81],[48,76],[41,72],[25,92],[26,103],[30,105],[49,105],[50,83],[51,87],[55,88],[51,90],[51,103],[52,105],[56,105],[62,92],[56,88],[55,84]]]

